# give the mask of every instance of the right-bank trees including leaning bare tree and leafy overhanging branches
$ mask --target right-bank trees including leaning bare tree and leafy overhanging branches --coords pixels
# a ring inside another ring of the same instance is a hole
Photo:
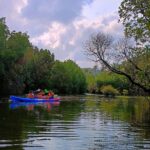
[[[150,95],[150,1],[123,0],[119,7],[125,37],[118,41],[96,33],[85,42],[87,55],[107,70],[126,77],[130,84]]]

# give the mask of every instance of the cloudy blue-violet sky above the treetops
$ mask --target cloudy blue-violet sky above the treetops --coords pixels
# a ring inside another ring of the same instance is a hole
[[[118,23],[121,0],[0,0],[0,18],[11,31],[26,32],[33,45],[49,49],[55,58],[93,67],[84,42],[92,33],[123,34]]]

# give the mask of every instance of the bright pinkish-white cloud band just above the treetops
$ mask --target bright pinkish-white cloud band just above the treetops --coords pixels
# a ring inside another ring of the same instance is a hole
[[[68,26],[59,22],[53,22],[49,30],[41,36],[32,38],[32,42],[39,47],[52,48],[56,59],[72,59],[81,67],[93,65],[85,55],[84,42],[92,33],[105,32],[114,37],[122,35],[122,26],[118,24],[116,13],[99,16],[95,20],[79,18]]]

